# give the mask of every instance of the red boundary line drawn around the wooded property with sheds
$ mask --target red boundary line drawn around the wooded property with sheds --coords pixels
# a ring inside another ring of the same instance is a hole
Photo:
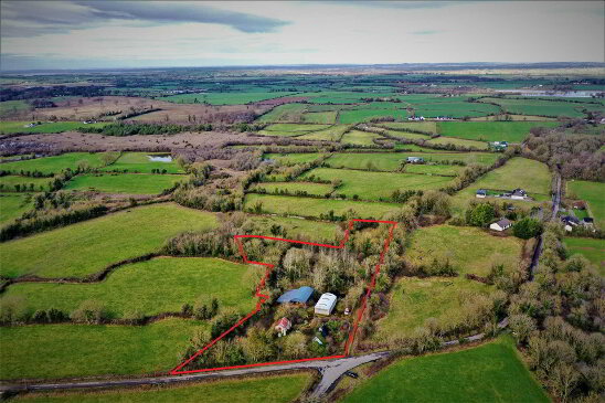
[[[372,278],[370,280],[370,285],[368,286],[368,291],[365,293],[365,296],[363,297],[363,301],[361,304],[361,307],[358,309],[358,315],[355,318],[355,321],[353,322],[353,328],[349,332],[349,339],[347,340],[347,343],[344,344],[344,354],[343,356],[329,356],[329,357],[318,357],[318,358],[306,358],[300,360],[289,360],[289,361],[272,361],[272,362],[262,362],[262,363],[254,363],[254,364],[244,364],[244,365],[232,365],[232,367],[219,367],[219,368],[206,368],[202,370],[190,370],[190,371],[181,371],[183,367],[185,367],[188,363],[193,361],[197,357],[202,354],[205,350],[214,346],[216,342],[219,342],[221,339],[223,339],[225,336],[227,336],[230,332],[235,330],[238,326],[244,324],[246,320],[248,320],[252,316],[254,316],[256,312],[261,310],[261,306],[267,301],[268,295],[261,294],[261,290],[265,287],[265,282],[269,277],[269,274],[272,269],[274,268],[274,265],[269,263],[262,263],[262,262],[253,262],[248,261],[248,257],[246,253],[244,252],[244,245],[240,241],[240,238],[248,238],[248,237],[256,237],[256,238],[263,238],[263,240],[272,240],[272,241],[284,241],[284,242],[290,242],[296,244],[304,244],[304,245],[314,245],[314,246],[322,246],[322,247],[329,247],[333,250],[341,250],[344,248],[344,243],[349,241],[349,232],[353,229],[354,222],[367,222],[367,223],[381,223],[381,224],[391,224],[391,229],[389,230],[389,237],[384,240],[384,248],[380,254],[380,262],[375,266],[375,271],[372,274]],[[273,236],[263,236],[263,235],[235,235],[234,240],[237,243],[237,248],[240,251],[240,255],[242,256],[244,263],[248,264],[255,264],[255,265],[262,265],[266,266],[267,269],[265,271],[265,276],[258,283],[256,286],[256,296],[259,298],[256,303],[256,308],[246,315],[244,318],[240,319],[235,325],[233,325],[229,330],[225,330],[221,336],[219,336],[216,339],[212,340],[210,343],[208,343],[203,349],[198,350],[193,356],[191,356],[189,359],[181,362],[178,367],[176,367],[172,371],[170,371],[171,375],[180,375],[185,373],[195,373],[195,372],[209,372],[209,371],[222,371],[222,370],[233,370],[233,369],[241,369],[241,368],[251,368],[251,367],[264,367],[264,365],[275,365],[275,364],[285,364],[285,363],[294,363],[294,362],[305,362],[305,361],[316,361],[316,360],[329,360],[329,359],[337,359],[337,358],[344,358],[349,356],[349,348],[353,343],[359,322],[361,321],[361,317],[363,316],[363,312],[365,311],[365,307],[368,305],[368,298],[372,295],[372,290],[374,289],[375,283],[376,283],[376,276],[380,274],[380,265],[384,262],[384,254],[386,251],[389,251],[389,244],[393,238],[393,230],[397,226],[397,223],[395,221],[380,221],[380,220],[361,220],[355,219],[349,221],[349,227],[347,231],[344,231],[344,238],[340,241],[340,245],[327,245],[327,244],[319,244],[315,242],[305,242],[305,241],[296,241],[296,240],[284,240],[280,237],[273,237]]]

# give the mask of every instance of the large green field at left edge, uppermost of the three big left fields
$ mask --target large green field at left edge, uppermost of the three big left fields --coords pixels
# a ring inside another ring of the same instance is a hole
[[[0,273],[7,277],[85,276],[112,263],[157,251],[181,232],[215,224],[212,213],[172,203],[130,209],[1,243]]]

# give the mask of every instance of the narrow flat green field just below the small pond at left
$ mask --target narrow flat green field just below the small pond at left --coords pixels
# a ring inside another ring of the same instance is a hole
[[[103,193],[159,194],[178,181],[182,174],[153,173],[92,173],[78,174],[67,182],[65,190],[97,191]]]

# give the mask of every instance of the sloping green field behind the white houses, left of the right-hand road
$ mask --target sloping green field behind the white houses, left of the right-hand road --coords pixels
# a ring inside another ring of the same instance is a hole
[[[546,165],[521,157],[511,158],[507,163],[495,169],[468,188],[457,193],[461,198],[475,198],[478,189],[511,191],[521,188],[528,195],[538,201],[551,199],[551,173]]]

